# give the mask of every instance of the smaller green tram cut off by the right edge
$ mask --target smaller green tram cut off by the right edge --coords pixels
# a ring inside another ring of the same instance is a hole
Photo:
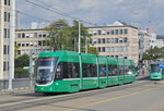
[[[160,63],[164,63],[164,62],[151,62],[150,64],[150,78],[151,79],[164,78],[164,67],[160,69]]]

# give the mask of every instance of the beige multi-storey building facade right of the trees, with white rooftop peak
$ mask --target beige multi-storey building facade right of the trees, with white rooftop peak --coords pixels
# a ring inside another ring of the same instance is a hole
[[[138,28],[122,22],[108,26],[90,27],[92,34],[90,44],[99,51],[101,55],[132,59],[139,61]]]

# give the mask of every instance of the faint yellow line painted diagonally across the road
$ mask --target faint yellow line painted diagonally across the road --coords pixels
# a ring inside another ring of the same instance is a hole
[[[96,102],[93,102],[93,103],[87,103],[87,104],[84,104],[84,106],[81,106],[81,107],[78,107],[78,108],[82,109],[82,108],[86,108],[86,107],[90,107],[90,106],[99,104],[99,103],[108,102],[108,101],[112,101],[112,100],[117,100],[117,99],[121,99],[121,98],[125,98],[125,97],[130,97],[130,96],[133,96],[133,95],[148,92],[150,90],[154,90],[154,89],[157,89],[160,87],[164,87],[164,85],[163,86],[156,86],[156,87],[153,87],[153,88],[148,88],[148,89],[144,89],[144,90],[141,90],[141,91],[132,92],[132,94],[126,94],[126,95],[122,95],[122,96],[119,96],[119,97],[114,97],[114,98],[108,98],[108,99],[105,99],[105,100],[99,100],[99,101],[96,101]],[[73,110],[77,110],[78,108],[67,109],[67,110],[63,110],[63,111],[73,111]]]

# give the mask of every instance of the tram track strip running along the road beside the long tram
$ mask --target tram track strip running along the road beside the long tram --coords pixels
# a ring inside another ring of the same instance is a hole
[[[139,87],[142,85],[150,84],[150,81],[137,81],[133,84],[126,84],[121,86],[116,86],[116,87],[107,87],[103,89],[92,89],[92,90],[84,90],[75,94],[61,94],[61,95],[52,95],[52,96],[43,96],[43,95],[36,95],[36,94],[24,94],[24,95],[13,95],[13,96],[34,96],[34,98],[23,98],[19,99],[15,101],[5,101],[5,102],[0,102],[0,109],[2,111],[16,111],[20,109],[25,109],[25,108],[32,108],[36,106],[42,106],[42,104],[50,104],[50,103],[56,103],[56,102],[61,102],[61,101],[67,101],[67,100],[72,100],[72,99],[78,99],[78,98],[83,98],[83,97],[90,97],[90,96],[96,96],[99,94],[105,94],[105,92],[112,92],[112,91],[118,91],[122,89],[128,89],[132,87]]]

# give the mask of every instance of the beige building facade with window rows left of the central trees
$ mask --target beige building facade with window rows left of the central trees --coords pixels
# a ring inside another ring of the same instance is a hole
[[[17,55],[28,54],[31,51],[38,54],[40,51],[51,51],[46,39],[48,32],[45,29],[16,29],[15,45],[19,47]]]

